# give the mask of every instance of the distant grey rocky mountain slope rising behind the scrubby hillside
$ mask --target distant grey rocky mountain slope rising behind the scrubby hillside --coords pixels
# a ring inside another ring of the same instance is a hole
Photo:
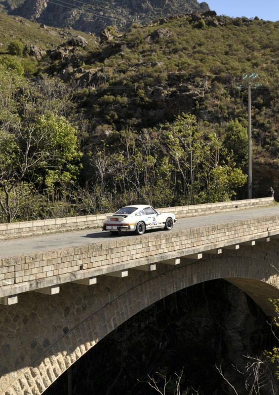
[[[7,0],[5,4],[9,14],[96,34],[110,25],[123,30],[133,23],[144,25],[157,18],[209,10],[206,2],[197,0]]]

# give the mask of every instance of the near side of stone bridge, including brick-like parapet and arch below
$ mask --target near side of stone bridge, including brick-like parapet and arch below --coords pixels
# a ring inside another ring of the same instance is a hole
[[[277,212],[1,258],[0,394],[43,393],[121,323],[199,282],[223,278],[273,316]]]

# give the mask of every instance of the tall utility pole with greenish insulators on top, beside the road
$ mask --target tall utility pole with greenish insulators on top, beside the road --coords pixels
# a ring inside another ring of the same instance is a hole
[[[245,86],[248,87],[248,199],[252,198],[252,136],[251,136],[251,86],[256,88],[261,84],[253,84],[253,80],[258,77],[256,73],[243,74],[243,83],[237,86],[241,89]]]

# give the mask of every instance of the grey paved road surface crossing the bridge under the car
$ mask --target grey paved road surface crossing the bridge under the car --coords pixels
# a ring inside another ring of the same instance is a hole
[[[220,224],[224,222],[237,221],[241,219],[255,218],[274,214],[279,214],[279,205],[272,205],[263,208],[244,209],[239,211],[210,215],[201,215],[198,217],[181,218],[176,222],[173,230],[197,228],[204,225]],[[146,234],[150,232],[161,233],[166,231],[147,231]],[[100,229],[85,229],[82,231],[72,231],[64,233],[54,233],[49,235],[38,235],[0,240],[0,258],[14,255],[22,255],[30,252],[42,252],[82,244],[98,243],[102,241],[114,240],[119,237],[135,236],[132,233],[111,235],[110,232],[102,232]]]

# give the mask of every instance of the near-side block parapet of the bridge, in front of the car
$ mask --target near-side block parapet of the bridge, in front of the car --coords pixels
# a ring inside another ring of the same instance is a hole
[[[131,268],[146,267],[279,234],[279,215],[218,225],[123,237],[102,243],[0,259],[0,297],[93,278]],[[90,281],[89,281],[90,280]],[[47,293],[48,290],[45,290]],[[14,302],[12,302],[14,303]]]

